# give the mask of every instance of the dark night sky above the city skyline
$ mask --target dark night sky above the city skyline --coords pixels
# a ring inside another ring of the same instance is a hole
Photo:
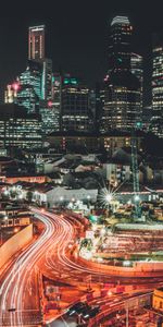
[[[133,50],[149,59],[151,33],[163,31],[160,0],[22,0],[0,4],[0,87],[26,68],[28,26],[46,24],[47,57],[59,69],[80,76],[89,86],[108,69],[108,35],[114,15],[134,26]]]

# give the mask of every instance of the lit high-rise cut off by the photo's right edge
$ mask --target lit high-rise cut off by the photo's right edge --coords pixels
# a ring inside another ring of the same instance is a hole
[[[163,137],[163,33],[153,35],[152,58],[152,130]]]

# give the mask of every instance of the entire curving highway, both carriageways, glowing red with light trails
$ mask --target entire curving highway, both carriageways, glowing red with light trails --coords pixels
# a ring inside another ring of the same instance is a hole
[[[91,275],[99,282],[99,271],[84,267],[70,256],[70,245],[78,237],[79,223],[49,211],[32,208],[45,226],[41,235],[14,259],[0,283],[0,326],[38,326],[41,313],[41,274],[54,280],[66,279],[79,284]],[[114,281],[114,276],[100,271],[100,280]],[[126,283],[139,279],[122,278]],[[141,283],[152,282],[141,278]],[[158,278],[156,281],[160,281]],[[55,325],[51,325],[55,326]],[[71,326],[71,325],[70,325]]]

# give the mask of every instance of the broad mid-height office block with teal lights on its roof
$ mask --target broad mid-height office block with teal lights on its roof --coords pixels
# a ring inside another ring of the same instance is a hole
[[[62,83],[62,131],[88,132],[92,129],[89,110],[89,89],[70,75]]]

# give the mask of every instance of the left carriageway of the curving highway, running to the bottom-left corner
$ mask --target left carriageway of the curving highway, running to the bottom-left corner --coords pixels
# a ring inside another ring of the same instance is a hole
[[[0,284],[0,325],[24,326],[41,319],[39,301],[39,270],[37,263],[45,256],[54,226],[46,216],[39,216],[45,225],[40,238],[15,259]]]

